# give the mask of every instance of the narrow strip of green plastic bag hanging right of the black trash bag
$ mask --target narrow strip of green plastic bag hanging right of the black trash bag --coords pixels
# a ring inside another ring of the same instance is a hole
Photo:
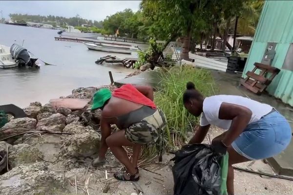
[[[222,157],[222,160],[220,162],[221,166],[221,188],[220,188],[220,195],[228,195],[227,192],[227,175],[228,175],[228,163],[229,163],[229,154],[226,153]]]

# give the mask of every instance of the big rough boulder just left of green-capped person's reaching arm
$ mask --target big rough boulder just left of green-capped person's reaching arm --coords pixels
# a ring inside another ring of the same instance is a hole
[[[93,130],[67,136],[63,139],[61,155],[71,157],[92,156],[99,151],[100,141],[100,135]]]

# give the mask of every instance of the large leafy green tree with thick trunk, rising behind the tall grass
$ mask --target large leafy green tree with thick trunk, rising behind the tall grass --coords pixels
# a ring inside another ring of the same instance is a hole
[[[141,9],[152,22],[150,31],[159,39],[183,37],[181,59],[189,59],[189,45],[192,33],[206,25],[209,0],[143,0]]]

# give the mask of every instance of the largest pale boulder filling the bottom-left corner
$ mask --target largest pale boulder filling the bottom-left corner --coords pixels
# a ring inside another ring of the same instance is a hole
[[[0,195],[65,195],[66,182],[44,163],[19,166],[0,176]]]

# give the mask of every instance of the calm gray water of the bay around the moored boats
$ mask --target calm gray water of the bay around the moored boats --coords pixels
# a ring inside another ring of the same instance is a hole
[[[0,105],[13,103],[20,107],[30,102],[47,103],[51,98],[71,94],[78,87],[109,84],[108,71],[114,80],[124,78],[132,70],[119,65],[98,65],[97,59],[111,53],[88,50],[84,44],[55,41],[57,30],[0,24],[0,44],[22,44],[43,61],[56,66],[41,66],[40,70],[0,69]],[[111,54],[119,58],[134,58],[136,53]]]

